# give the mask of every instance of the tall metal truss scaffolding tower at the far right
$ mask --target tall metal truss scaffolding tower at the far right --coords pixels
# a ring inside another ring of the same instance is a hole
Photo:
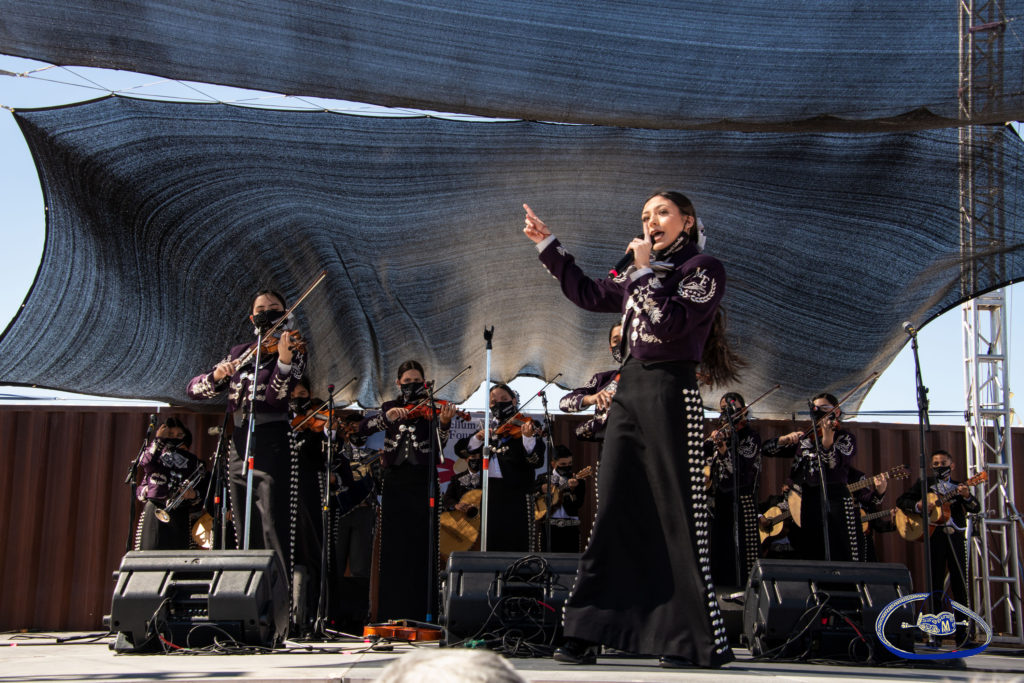
[[[982,117],[1002,95],[1002,41],[1007,19],[999,0],[959,3],[959,117]],[[997,250],[1006,226],[1004,160],[996,126],[959,129],[962,294],[979,283],[1006,282]],[[967,392],[967,463],[988,472],[977,489],[981,514],[970,539],[974,609],[991,625],[993,641],[1024,643],[1021,562],[1014,505],[1006,291],[963,306],[964,386]]]

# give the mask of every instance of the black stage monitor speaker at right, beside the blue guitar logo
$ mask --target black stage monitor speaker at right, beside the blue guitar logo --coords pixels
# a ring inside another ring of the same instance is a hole
[[[758,560],[746,584],[743,640],[754,656],[891,659],[874,622],[911,592],[902,564]],[[900,628],[904,621],[914,622],[911,606],[892,613],[886,638],[912,652],[912,634]]]

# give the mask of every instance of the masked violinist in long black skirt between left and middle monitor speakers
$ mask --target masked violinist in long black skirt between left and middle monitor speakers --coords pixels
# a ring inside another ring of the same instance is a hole
[[[410,411],[428,397],[423,366],[416,360],[401,364],[395,384],[400,395],[364,419],[356,432],[370,436],[384,431],[377,621],[423,622],[428,613],[437,613],[440,557],[437,510],[431,504],[431,497],[440,499],[440,488],[436,463],[431,462],[431,440],[436,440],[433,453],[439,457],[447,442],[455,405],[445,404],[439,411],[435,434],[429,419],[410,417]],[[428,586],[428,575],[434,577],[434,585]]]

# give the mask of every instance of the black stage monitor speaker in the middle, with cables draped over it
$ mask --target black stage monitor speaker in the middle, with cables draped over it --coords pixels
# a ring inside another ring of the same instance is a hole
[[[579,566],[579,553],[452,553],[441,588],[442,644],[514,631],[557,645]]]

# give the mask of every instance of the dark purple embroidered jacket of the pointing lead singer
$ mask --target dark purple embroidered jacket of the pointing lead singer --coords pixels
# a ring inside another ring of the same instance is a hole
[[[725,294],[725,268],[693,244],[666,257],[666,269],[630,268],[592,280],[551,236],[537,245],[540,259],[575,305],[620,311],[623,339],[637,360],[700,361],[715,312]],[[656,265],[656,264],[655,264]]]

